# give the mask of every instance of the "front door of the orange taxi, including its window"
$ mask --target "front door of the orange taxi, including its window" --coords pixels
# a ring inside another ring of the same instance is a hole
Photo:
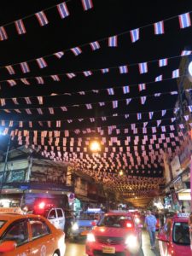
[[[4,256],[30,256],[27,219],[20,219],[10,224],[3,236],[0,237],[0,242],[2,241],[15,241],[17,244],[13,252],[3,253]]]

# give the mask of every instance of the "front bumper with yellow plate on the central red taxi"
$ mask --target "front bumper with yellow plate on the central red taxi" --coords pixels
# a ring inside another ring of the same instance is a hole
[[[110,247],[114,247],[112,250]],[[110,251],[111,250],[111,251]],[[87,256],[104,256],[104,255],[115,255],[115,256],[131,256],[132,253],[125,245],[103,245],[96,242],[86,242],[85,255]]]

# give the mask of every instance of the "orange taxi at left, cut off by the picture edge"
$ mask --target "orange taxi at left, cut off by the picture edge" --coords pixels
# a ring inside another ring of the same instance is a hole
[[[65,233],[42,216],[0,208],[0,255],[64,256]]]

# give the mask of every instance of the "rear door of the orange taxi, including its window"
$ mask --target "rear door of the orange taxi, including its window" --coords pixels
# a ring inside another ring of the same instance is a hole
[[[55,239],[48,224],[41,218],[30,218],[30,247],[32,256],[49,256],[54,253]]]

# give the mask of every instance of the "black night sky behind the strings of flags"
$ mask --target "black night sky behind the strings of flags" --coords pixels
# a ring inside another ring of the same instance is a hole
[[[92,0],[94,8],[84,11],[80,0],[67,1],[67,8],[70,15],[61,20],[56,8],[50,8],[60,1],[3,1],[0,9],[0,24],[5,26],[8,39],[0,42],[0,96],[6,98],[6,105],[0,108],[0,121],[5,120],[6,126],[10,120],[14,120],[13,128],[18,128],[18,121],[23,121],[23,127],[20,130],[61,130],[72,131],[72,137],[75,140],[78,137],[87,135],[75,135],[73,131],[85,128],[104,127],[108,130],[108,125],[117,125],[120,130],[119,140],[125,139],[125,134],[121,131],[124,128],[130,128],[131,124],[137,123],[139,128],[138,136],[143,137],[141,127],[143,122],[148,122],[148,112],[154,111],[154,119],[148,123],[148,136],[151,136],[151,126],[156,126],[156,120],[164,119],[161,125],[171,125],[170,119],[173,117],[172,110],[167,110],[166,115],[162,118],[162,109],[174,108],[177,96],[170,96],[168,92],[177,90],[176,79],[172,78],[172,70],[177,69],[180,58],[168,60],[167,67],[158,67],[158,61],[148,63],[148,73],[140,74],[137,65],[134,63],[159,60],[166,57],[173,57],[181,54],[183,49],[192,49],[192,26],[180,29],[177,15],[192,10],[191,1],[128,1],[128,0]],[[39,26],[37,18],[33,15],[36,12],[45,10],[49,20],[47,26]],[[18,35],[15,30],[13,21],[26,18],[26,34]],[[154,35],[154,22],[165,21],[165,34]],[[192,18],[192,15],[191,15]],[[148,26],[151,24],[151,26]],[[145,26],[145,27],[143,27]],[[130,30],[143,27],[140,29],[140,39],[136,43],[131,43]],[[119,35],[118,47],[108,47],[108,37]],[[100,41],[101,49],[92,51],[89,43]],[[81,47],[81,45],[83,45]],[[73,47],[80,46],[82,54],[74,56],[69,50]],[[53,54],[63,50],[65,55],[59,60]],[[48,67],[40,69],[36,61],[30,61],[39,57],[49,55],[45,60]],[[22,61],[30,61],[28,65],[31,72],[21,73],[19,65],[15,65],[15,75],[9,75],[4,66],[13,65]],[[117,67],[127,64],[129,73],[119,74]],[[115,67],[110,69],[108,74],[102,74],[100,69],[106,67]],[[91,70],[93,75],[84,77],[82,71]],[[75,79],[67,79],[66,73],[76,73]],[[59,74],[61,81],[54,82],[49,78],[50,75]],[[163,75],[164,80],[160,83],[147,84],[147,89],[142,92],[138,91],[139,83],[154,81],[155,77]],[[38,84],[34,77],[43,77],[44,84]],[[30,85],[25,85],[17,81],[17,84],[11,87],[7,79],[30,78]],[[4,81],[4,82],[3,82]],[[123,94],[122,87],[130,85],[129,94]],[[114,96],[108,96],[107,88],[117,87],[114,89]],[[99,90],[99,93],[92,93],[91,90]],[[85,96],[80,96],[79,91],[85,91]],[[90,91],[90,92],[87,92]],[[154,93],[164,93],[160,97],[154,97]],[[50,96],[52,93],[60,96]],[[72,96],[63,96],[64,93],[72,93]],[[152,96],[151,96],[152,95]],[[45,96],[44,104],[39,106],[37,96]],[[140,96],[148,96],[146,103],[140,103]],[[15,105],[11,98],[17,98],[19,105]],[[32,104],[26,104],[24,98],[31,97]],[[135,98],[136,97],[136,98]],[[7,99],[9,98],[9,99]],[[127,106],[125,99],[132,99]],[[119,101],[118,108],[112,108],[111,101]],[[98,102],[105,102],[105,107],[99,107]],[[92,103],[92,109],[87,110],[85,104]],[[79,107],[72,107],[79,105]],[[62,112],[60,107],[67,106],[68,111]],[[70,107],[71,106],[71,107]],[[9,109],[10,113],[4,112]],[[20,109],[21,113],[16,113],[13,109]],[[32,115],[26,114],[25,109],[32,108]],[[43,109],[43,115],[39,115],[36,108]],[[54,108],[54,114],[49,114],[48,108]],[[125,119],[125,114],[129,113],[130,118]],[[136,113],[143,113],[143,119],[137,120]],[[114,117],[113,114],[118,114]],[[108,117],[107,122],[103,123],[101,117]],[[90,122],[91,117],[96,118],[95,122]],[[73,119],[68,123],[67,119]],[[78,119],[84,119],[79,122]],[[48,127],[47,121],[51,120],[51,127]],[[61,120],[61,128],[55,128],[55,120]],[[30,128],[28,121],[32,121],[33,127]],[[38,122],[43,121],[43,125]],[[1,124],[1,123],[0,123]],[[160,127],[157,130],[160,130]],[[157,131],[160,136],[161,131]],[[95,133],[94,133],[95,134]],[[93,135],[94,135],[93,134]],[[110,137],[105,132],[107,139]],[[113,137],[117,136],[113,134]],[[132,136],[132,134],[129,134]],[[133,137],[133,136],[132,136]],[[32,142],[32,138],[31,138]],[[40,137],[38,137],[40,144]],[[131,152],[135,155],[133,144]],[[70,150],[70,149],[67,149]],[[80,151],[83,149],[81,148]],[[138,149],[141,152],[141,148]],[[134,157],[133,157],[134,158]],[[118,161],[114,160],[116,169]],[[162,175],[158,172],[162,169],[159,162],[156,161],[157,167],[146,167],[157,170],[153,172],[155,177]],[[146,165],[144,165],[146,166]],[[109,168],[110,169],[110,168]],[[126,169],[126,168],[125,168]],[[139,169],[139,167],[138,167]],[[131,169],[130,169],[131,170]],[[104,171],[103,171],[104,172]],[[106,171],[107,172],[107,171]],[[113,172],[108,171],[108,172]],[[116,171],[115,171],[116,172]],[[142,172],[130,172],[129,174],[141,175]],[[152,172],[148,174],[153,176]]]

